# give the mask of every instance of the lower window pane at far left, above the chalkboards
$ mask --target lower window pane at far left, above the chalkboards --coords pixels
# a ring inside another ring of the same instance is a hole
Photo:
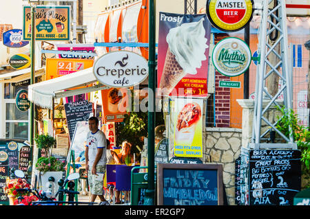
[[[6,122],[7,139],[28,139],[28,122]]]

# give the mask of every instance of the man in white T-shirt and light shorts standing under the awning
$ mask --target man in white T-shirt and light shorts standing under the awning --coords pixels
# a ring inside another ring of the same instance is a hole
[[[91,202],[99,196],[99,205],[110,205],[103,196],[103,176],[107,163],[106,145],[104,133],[98,128],[99,120],[96,117],[88,119],[90,131],[87,133],[85,147],[85,168],[88,172],[88,183],[90,185]]]

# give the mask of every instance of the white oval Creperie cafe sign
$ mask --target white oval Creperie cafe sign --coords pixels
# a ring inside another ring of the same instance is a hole
[[[132,87],[147,78],[147,60],[131,51],[112,51],[96,60],[94,76],[108,87]]]

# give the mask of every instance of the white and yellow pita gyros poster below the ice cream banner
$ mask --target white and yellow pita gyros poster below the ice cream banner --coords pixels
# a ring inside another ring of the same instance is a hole
[[[203,157],[203,99],[174,102],[174,156]]]

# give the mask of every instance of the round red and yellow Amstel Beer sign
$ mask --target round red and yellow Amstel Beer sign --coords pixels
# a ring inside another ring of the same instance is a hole
[[[253,0],[207,0],[209,21],[218,30],[235,32],[252,19]]]

